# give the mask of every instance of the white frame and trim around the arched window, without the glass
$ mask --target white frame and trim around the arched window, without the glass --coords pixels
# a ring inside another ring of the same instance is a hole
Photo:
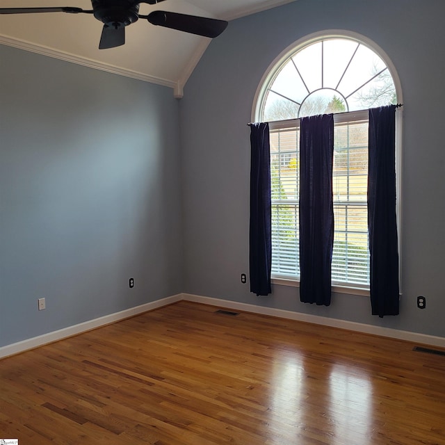
[[[280,71],[281,67],[286,63],[287,60],[289,60],[289,57],[291,57],[293,54],[296,54],[297,51],[300,49],[307,47],[309,44],[313,44],[316,42],[320,42],[321,40],[325,40],[327,38],[346,38],[350,40],[355,40],[356,42],[359,42],[361,44],[364,44],[366,47],[369,47],[372,51],[375,52],[387,65],[387,68],[389,70],[389,73],[391,74],[391,77],[394,81],[394,86],[396,88],[396,95],[398,99],[398,103],[403,104],[403,96],[402,96],[402,89],[401,89],[401,82],[398,77],[398,74],[396,72],[396,68],[394,67],[394,64],[391,62],[391,59],[383,49],[381,49],[375,42],[370,40],[369,38],[366,38],[364,35],[360,35],[358,33],[354,33],[352,31],[343,31],[343,30],[328,30],[328,31],[320,31],[317,33],[313,33],[310,35],[307,35],[303,38],[300,38],[293,44],[289,45],[284,51],[282,51],[281,54],[279,54],[275,60],[273,60],[272,63],[270,63],[268,69],[264,73],[263,77],[261,78],[261,81],[259,82],[259,86],[257,87],[257,92],[254,96],[253,106],[252,106],[252,122],[259,122],[261,121],[261,113],[262,113],[262,106],[264,104],[265,95],[267,93],[268,86],[270,83],[275,79],[277,76],[277,73]],[[362,111],[352,111],[350,113],[339,113],[337,115],[334,115],[334,123],[341,122],[341,120],[349,120],[351,116],[353,119],[351,120],[359,120],[359,115],[363,115],[363,113],[368,113],[367,110]],[[367,117],[367,116],[366,116]],[[399,287],[400,287],[400,293],[402,293],[402,287],[401,287],[401,275],[402,275],[402,268],[401,268],[401,258],[402,258],[402,251],[401,251],[401,238],[402,238],[402,230],[401,230],[401,184],[402,184],[402,120],[403,120],[403,108],[398,108],[396,112],[396,218],[397,218],[397,227],[398,227],[398,257],[399,257]],[[278,121],[278,122],[269,122],[271,129],[276,129],[280,127],[280,124],[282,127],[287,127],[289,124],[294,123],[295,125],[298,124],[298,119],[295,120],[287,120],[287,121]],[[281,122],[281,123],[280,123]],[[300,282],[298,280],[289,279],[289,277],[274,277],[272,276],[272,283],[273,284],[279,284],[282,286],[295,286],[299,287]],[[332,291],[337,293],[347,293],[352,295],[358,295],[358,296],[369,296],[369,289],[363,289],[363,288],[357,288],[354,286],[348,286],[348,285],[334,285],[332,286]]]

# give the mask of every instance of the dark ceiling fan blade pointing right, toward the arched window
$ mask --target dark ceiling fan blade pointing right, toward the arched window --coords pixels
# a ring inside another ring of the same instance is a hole
[[[165,26],[165,28],[177,29],[186,33],[204,35],[204,37],[210,38],[220,35],[227,28],[228,24],[225,20],[170,13],[168,11],[153,11],[147,16],[140,15],[139,17],[147,19],[154,25]]]

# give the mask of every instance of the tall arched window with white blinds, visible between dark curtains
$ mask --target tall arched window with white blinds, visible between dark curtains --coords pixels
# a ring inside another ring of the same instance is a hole
[[[336,113],[332,284],[369,289],[368,109],[397,102],[401,88],[389,58],[354,33],[309,36],[270,66],[253,114],[270,126],[275,280],[298,282],[300,275],[299,118]]]

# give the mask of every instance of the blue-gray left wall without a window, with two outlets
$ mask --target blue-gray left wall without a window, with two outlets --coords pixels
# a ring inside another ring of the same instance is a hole
[[[0,346],[179,293],[172,90],[1,45],[0,88]]]

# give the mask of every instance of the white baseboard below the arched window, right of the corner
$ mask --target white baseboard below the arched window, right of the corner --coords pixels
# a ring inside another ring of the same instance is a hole
[[[220,298],[211,298],[190,293],[183,293],[182,299],[187,301],[199,302],[204,305],[218,306],[225,309],[236,309],[238,311],[252,312],[254,314],[269,315],[279,318],[288,318],[289,320],[305,321],[316,325],[324,325],[330,327],[339,327],[355,332],[363,332],[365,334],[379,335],[380,337],[390,337],[391,339],[399,339],[411,341],[413,343],[421,343],[430,346],[439,346],[445,348],[445,338],[435,337],[433,335],[419,334],[416,332],[402,331],[391,329],[389,327],[380,327],[374,325],[366,325],[364,323],[355,323],[354,321],[339,320],[337,318],[327,318],[311,314],[301,314],[300,312],[291,312],[284,309],[274,309],[273,307],[263,307],[257,305],[248,305],[230,300],[222,300]]]

